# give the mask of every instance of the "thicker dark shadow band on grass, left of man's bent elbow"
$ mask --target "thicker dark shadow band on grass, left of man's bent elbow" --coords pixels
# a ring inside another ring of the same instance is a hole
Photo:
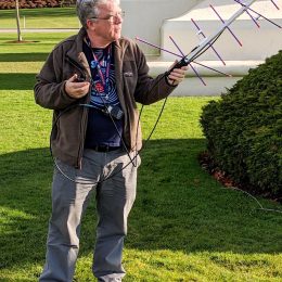
[[[37,74],[0,74],[0,90],[34,89],[36,75]]]

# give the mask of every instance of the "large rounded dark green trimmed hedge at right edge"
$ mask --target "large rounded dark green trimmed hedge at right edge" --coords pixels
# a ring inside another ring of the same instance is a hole
[[[209,102],[200,121],[220,169],[256,193],[282,195],[282,51]]]

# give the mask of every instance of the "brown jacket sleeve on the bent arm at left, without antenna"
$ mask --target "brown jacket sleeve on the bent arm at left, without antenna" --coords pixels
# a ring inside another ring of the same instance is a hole
[[[48,56],[40,73],[36,76],[37,82],[34,87],[36,103],[51,110],[63,110],[76,102],[65,91],[63,79],[62,57],[53,50]]]

